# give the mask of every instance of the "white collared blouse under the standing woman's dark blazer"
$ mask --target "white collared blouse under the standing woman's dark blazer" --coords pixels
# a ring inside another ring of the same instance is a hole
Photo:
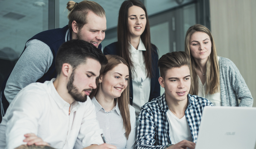
[[[141,39],[138,50],[131,45],[130,52],[134,70],[132,71],[132,106],[135,108],[136,118],[140,114],[140,107],[148,102],[151,87],[151,79],[147,77],[145,58],[142,51],[146,51],[146,48]]]

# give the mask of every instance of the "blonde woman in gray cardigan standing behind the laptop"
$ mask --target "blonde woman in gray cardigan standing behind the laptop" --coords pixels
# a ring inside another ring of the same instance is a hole
[[[244,78],[230,59],[217,56],[208,28],[199,24],[189,27],[185,52],[191,58],[189,94],[207,98],[214,106],[252,107],[253,98]]]

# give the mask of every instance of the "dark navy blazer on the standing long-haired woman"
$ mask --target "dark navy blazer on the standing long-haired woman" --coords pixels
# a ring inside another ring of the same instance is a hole
[[[153,77],[151,78],[151,87],[150,87],[150,95],[148,102],[151,101],[154,98],[157,98],[160,96],[160,84],[158,82],[158,78],[160,77],[159,74],[159,68],[157,67],[158,62],[158,54],[157,54],[157,48],[154,44],[152,45],[152,73]],[[118,55],[118,45],[117,42],[111,43],[108,46],[106,46],[103,50],[104,55]],[[120,55],[119,55],[120,56]],[[131,70],[129,72],[131,75]],[[130,81],[130,105],[132,105],[133,100],[133,90],[132,90],[132,80]]]

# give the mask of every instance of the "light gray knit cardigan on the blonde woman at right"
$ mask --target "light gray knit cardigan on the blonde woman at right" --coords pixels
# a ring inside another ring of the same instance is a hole
[[[221,106],[252,107],[252,94],[236,65],[230,59],[220,57],[219,67]]]

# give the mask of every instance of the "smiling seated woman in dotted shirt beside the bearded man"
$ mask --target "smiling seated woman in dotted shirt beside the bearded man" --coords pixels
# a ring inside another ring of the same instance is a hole
[[[90,98],[106,142],[117,149],[134,149],[136,120],[135,109],[129,105],[128,64],[117,55],[106,57],[108,64],[101,67]]]

